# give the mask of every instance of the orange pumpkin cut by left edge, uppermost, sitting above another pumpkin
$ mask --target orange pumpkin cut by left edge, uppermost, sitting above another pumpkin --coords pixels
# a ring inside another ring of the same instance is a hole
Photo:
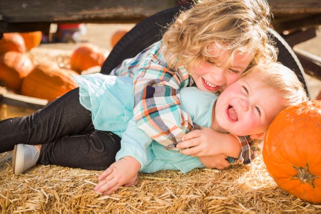
[[[19,33],[4,33],[0,39],[0,54],[8,51],[26,52],[25,40]]]

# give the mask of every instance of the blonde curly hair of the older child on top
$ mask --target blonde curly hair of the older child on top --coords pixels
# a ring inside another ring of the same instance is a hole
[[[277,51],[267,35],[269,5],[265,0],[203,0],[181,12],[163,35],[169,68],[190,71],[208,59],[210,45],[236,53],[253,54],[250,65],[276,61]],[[223,45],[223,46],[221,46]]]

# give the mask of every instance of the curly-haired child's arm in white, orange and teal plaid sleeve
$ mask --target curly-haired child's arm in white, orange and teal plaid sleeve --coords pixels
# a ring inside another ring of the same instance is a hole
[[[170,71],[153,61],[134,77],[137,126],[158,143],[177,144],[194,130],[190,116],[180,108],[179,89],[189,86],[186,71]]]

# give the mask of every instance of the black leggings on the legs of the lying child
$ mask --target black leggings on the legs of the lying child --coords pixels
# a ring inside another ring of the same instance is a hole
[[[79,102],[78,88],[34,114],[0,121],[0,153],[19,143],[42,144],[38,163],[45,165],[106,169],[115,162],[120,140],[94,129],[91,112]]]

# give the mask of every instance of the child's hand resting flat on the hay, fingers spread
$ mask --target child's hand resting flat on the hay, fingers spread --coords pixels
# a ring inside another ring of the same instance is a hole
[[[100,182],[95,186],[97,192],[110,195],[119,187],[137,184],[137,173],[140,163],[131,156],[125,156],[108,167],[99,177]]]

